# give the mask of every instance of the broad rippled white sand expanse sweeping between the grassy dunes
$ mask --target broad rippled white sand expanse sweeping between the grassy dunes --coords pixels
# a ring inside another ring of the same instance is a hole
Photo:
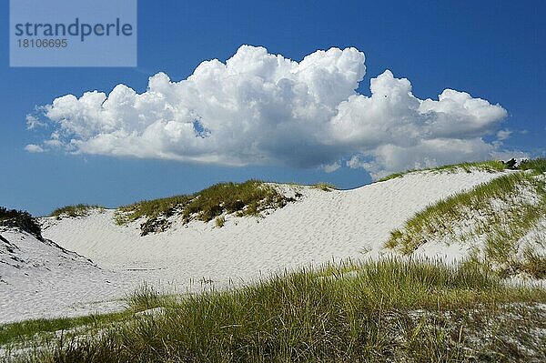
[[[102,268],[100,274],[112,275],[110,283],[86,278],[87,273],[95,276],[90,267],[77,273],[76,268],[69,272],[59,267],[56,282],[51,283],[57,289],[34,291],[26,286],[34,283],[22,278],[9,289],[0,289],[0,296],[9,296],[2,305],[0,322],[74,315],[71,307],[75,300],[86,306],[97,300],[113,300],[142,281],[166,290],[197,291],[238,286],[285,268],[359,259],[367,251],[377,256],[389,232],[413,214],[496,176],[499,174],[420,172],[346,191],[302,187],[304,197],[298,202],[264,218],[227,216],[221,228],[215,227],[214,221],[183,226],[174,218],[172,228],[146,237],[140,237],[138,222],[116,226],[113,210],[60,221],[44,218],[45,237],[91,258]],[[293,193],[294,187],[284,188]],[[445,251],[439,250],[441,253]],[[4,267],[0,268],[3,276]],[[49,281],[48,275],[43,280]],[[63,291],[76,292],[65,300]]]

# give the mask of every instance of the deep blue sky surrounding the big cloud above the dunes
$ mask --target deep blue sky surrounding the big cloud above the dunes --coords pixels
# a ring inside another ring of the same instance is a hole
[[[346,137],[351,126],[365,123],[366,117],[371,117],[366,113],[357,120],[342,120],[339,125],[349,130],[344,135],[325,134],[332,140],[341,140],[339,142],[323,140],[324,144],[317,144],[307,139],[300,141],[297,139],[301,135],[298,130],[295,140],[286,145],[290,148],[289,153],[285,153],[283,143],[287,136],[283,134],[271,142],[278,145],[278,150],[271,145],[259,149],[268,160],[263,163],[251,156],[226,153],[225,148],[215,148],[215,157],[219,161],[212,164],[203,162],[202,158],[178,161],[148,154],[132,156],[131,151],[122,156],[104,151],[80,150],[76,155],[64,149],[44,153],[25,151],[29,144],[42,145],[48,137],[47,132],[52,131],[52,128],[48,131],[27,130],[25,116],[33,113],[35,106],[50,105],[57,97],[67,94],[80,97],[86,91],[98,90],[108,95],[118,84],[129,86],[141,94],[147,91],[148,77],[157,72],[165,72],[171,81],[178,82],[192,75],[205,60],[217,58],[225,63],[241,45],[263,46],[268,54],[283,55],[297,62],[319,49],[355,47],[366,55],[366,72],[359,82],[359,95],[370,96],[372,78],[380,78],[378,84],[381,85],[408,78],[413,96],[420,100],[437,100],[446,88],[467,92],[471,97],[487,100],[490,107],[499,104],[505,110],[502,117],[490,116],[490,124],[480,128],[476,135],[471,136],[474,137],[472,140],[476,137],[482,139],[484,145],[495,147],[497,153],[508,150],[514,155],[524,152],[531,156],[544,156],[545,3],[410,3],[317,2],[310,6],[308,2],[299,1],[192,3],[140,0],[136,68],[10,68],[8,29],[4,26],[0,57],[3,96],[0,205],[45,215],[53,208],[67,204],[116,207],[143,198],[193,192],[219,181],[243,181],[252,177],[299,183],[328,181],[350,188],[369,183],[369,171],[377,174],[406,164],[412,167],[416,158],[434,158],[439,162],[445,159],[441,150],[430,151],[436,154],[429,156],[430,148],[420,147],[401,150],[402,154],[404,150],[405,154],[418,150],[410,159],[397,156],[399,159],[390,165],[383,159],[379,160],[379,156],[386,157],[385,150],[389,145],[404,145],[404,142],[390,140],[385,142],[384,148],[374,148],[376,146],[370,146],[371,141],[366,139],[370,135],[367,129],[362,130],[359,138]],[[1,4],[0,22],[7,25],[8,17],[5,1]],[[383,74],[386,69],[394,74],[395,81]],[[383,78],[378,77],[382,74]],[[397,85],[405,89],[402,84]],[[368,102],[364,97],[361,101]],[[374,117],[374,122],[381,122],[380,115]],[[206,117],[203,120],[207,123]],[[75,119],[74,122],[79,121]],[[52,124],[50,127],[55,126]],[[214,126],[210,127],[214,134]],[[419,132],[420,128],[415,130]],[[499,134],[500,130],[508,132]],[[232,132],[237,134],[237,130]],[[314,129],[309,129],[309,133],[312,132]],[[456,132],[461,133],[460,130],[452,131]],[[469,140],[467,136],[452,137],[465,142]],[[306,158],[302,162],[292,162],[294,157],[301,155],[319,155],[321,145],[331,146],[331,150],[340,156],[339,160],[309,156],[310,161]],[[460,145],[464,148],[467,144]],[[182,153],[182,148],[174,150]],[[358,157],[353,158],[355,162],[351,167],[347,162],[355,153]],[[464,155],[464,149],[460,153]],[[469,155],[472,158],[479,153]],[[230,157],[237,158],[243,166],[229,165]],[[332,161],[339,166],[335,171],[326,172],[325,167],[319,165]]]

